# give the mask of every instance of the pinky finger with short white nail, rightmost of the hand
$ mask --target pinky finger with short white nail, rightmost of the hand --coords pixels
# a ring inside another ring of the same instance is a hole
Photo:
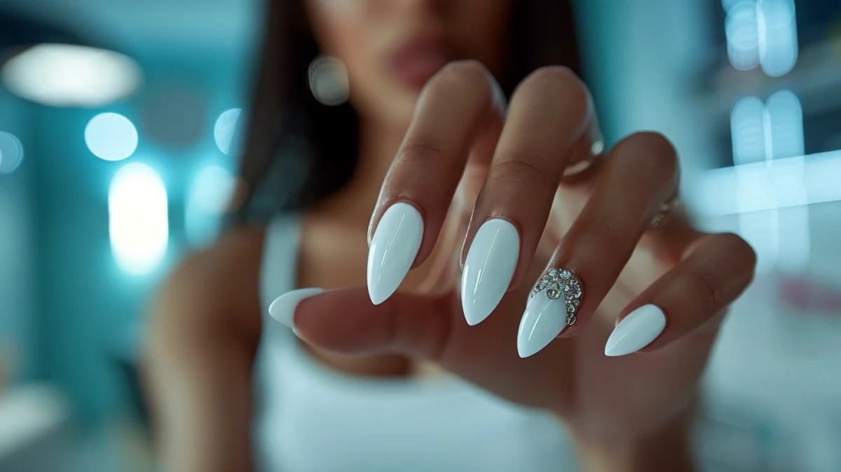
[[[756,256],[733,234],[702,236],[676,267],[623,310],[607,356],[659,349],[703,326],[754,278]]]

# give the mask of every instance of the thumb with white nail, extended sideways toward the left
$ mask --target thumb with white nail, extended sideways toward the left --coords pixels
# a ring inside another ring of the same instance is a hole
[[[269,314],[315,347],[336,353],[404,353],[436,360],[447,349],[452,294],[395,293],[373,305],[368,290],[298,289],[269,306]]]

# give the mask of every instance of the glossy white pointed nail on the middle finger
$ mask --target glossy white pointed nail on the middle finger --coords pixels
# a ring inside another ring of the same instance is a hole
[[[468,325],[478,325],[496,310],[514,276],[519,255],[520,235],[514,225],[494,219],[479,227],[462,273],[462,309]]]

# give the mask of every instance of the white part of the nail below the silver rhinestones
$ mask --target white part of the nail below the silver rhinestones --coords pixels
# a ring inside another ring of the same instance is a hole
[[[526,312],[520,321],[517,353],[520,353],[521,358],[537,353],[567,326],[567,302],[563,297],[550,300],[545,292],[536,294],[526,305]]]

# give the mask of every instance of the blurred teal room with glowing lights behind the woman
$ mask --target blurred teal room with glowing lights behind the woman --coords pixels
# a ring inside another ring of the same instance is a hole
[[[262,0],[0,0],[0,470],[154,470],[149,296],[235,188]],[[705,381],[708,470],[841,471],[841,3],[579,0],[608,141],[659,130],[759,276]]]

